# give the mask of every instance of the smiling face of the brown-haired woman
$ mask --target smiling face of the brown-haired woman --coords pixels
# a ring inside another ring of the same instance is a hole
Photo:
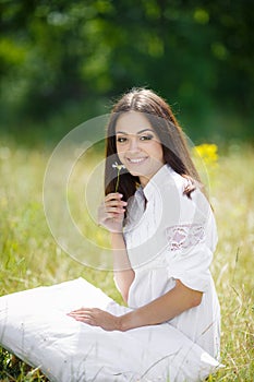
[[[149,120],[142,112],[124,112],[117,121],[116,140],[119,159],[145,187],[165,165],[160,141]]]

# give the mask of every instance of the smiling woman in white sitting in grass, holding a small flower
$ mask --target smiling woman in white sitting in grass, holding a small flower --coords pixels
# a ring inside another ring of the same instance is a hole
[[[208,270],[216,225],[170,107],[134,89],[114,106],[107,136],[99,223],[111,231],[116,284],[132,310],[70,315],[106,331],[168,323],[218,358],[220,313]],[[116,160],[126,169],[119,192]]]

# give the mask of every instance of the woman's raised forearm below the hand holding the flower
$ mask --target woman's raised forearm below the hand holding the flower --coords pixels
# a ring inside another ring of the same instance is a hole
[[[129,289],[135,277],[135,273],[131,267],[125,242],[121,232],[111,234],[111,246],[113,252],[114,282],[126,302]]]

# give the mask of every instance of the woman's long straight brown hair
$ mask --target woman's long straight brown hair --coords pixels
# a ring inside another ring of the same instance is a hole
[[[201,184],[197,170],[191,159],[186,140],[170,106],[157,94],[146,88],[134,88],[124,94],[114,105],[107,128],[106,166],[105,166],[105,193],[116,191],[117,171],[112,165],[121,162],[117,154],[116,126],[119,117],[128,111],[145,114],[150,126],[157,133],[164,152],[165,163],[181,176],[189,179],[184,194],[191,198],[196,182]],[[132,196],[138,184],[138,177],[132,176],[126,170],[119,175],[118,192],[123,194],[123,200]]]

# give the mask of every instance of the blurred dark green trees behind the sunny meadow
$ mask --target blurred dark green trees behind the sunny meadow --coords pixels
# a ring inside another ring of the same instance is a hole
[[[1,0],[0,135],[57,142],[133,86],[195,142],[254,140],[254,2]]]

